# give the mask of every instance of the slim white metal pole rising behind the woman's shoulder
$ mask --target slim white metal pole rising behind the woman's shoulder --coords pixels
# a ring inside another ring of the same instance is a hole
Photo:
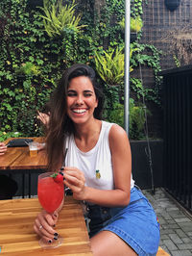
[[[130,117],[130,18],[131,0],[125,0],[125,89],[124,89],[124,126],[129,135]]]

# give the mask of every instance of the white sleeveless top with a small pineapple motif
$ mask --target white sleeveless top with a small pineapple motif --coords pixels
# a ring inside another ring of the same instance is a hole
[[[71,135],[66,140],[68,148],[65,165],[75,166],[84,171],[85,186],[99,190],[113,190],[114,180],[111,153],[108,142],[109,130],[113,123],[102,121],[102,129],[96,145],[88,152],[81,151]],[[131,189],[134,181],[131,179]]]

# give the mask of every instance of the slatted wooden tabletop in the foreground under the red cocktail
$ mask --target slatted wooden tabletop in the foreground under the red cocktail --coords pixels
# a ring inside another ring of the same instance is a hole
[[[65,196],[56,230],[63,237],[58,248],[42,249],[33,225],[41,207],[37,198],[0,200],[1,255],[92,255],[81,205]]]

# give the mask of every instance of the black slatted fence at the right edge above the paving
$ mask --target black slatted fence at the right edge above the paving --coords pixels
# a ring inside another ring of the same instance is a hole
[[[162,71],[163,183],[192,213],[192,65]]]

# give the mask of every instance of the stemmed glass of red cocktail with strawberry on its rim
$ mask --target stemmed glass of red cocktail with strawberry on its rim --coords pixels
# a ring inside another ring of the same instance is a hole
[[[59,175],[60,173],[55,172],[45,172],[38,175],[38,201],[49,214],[54,214],[64,199],[63,178],[60,179]],[[45,243],[43,239],[40,239],[39,244],[43,248],[56,248],[60,246],[62,241],[63,238],[58,236],[58,240],[53,240],[52,243]]]

